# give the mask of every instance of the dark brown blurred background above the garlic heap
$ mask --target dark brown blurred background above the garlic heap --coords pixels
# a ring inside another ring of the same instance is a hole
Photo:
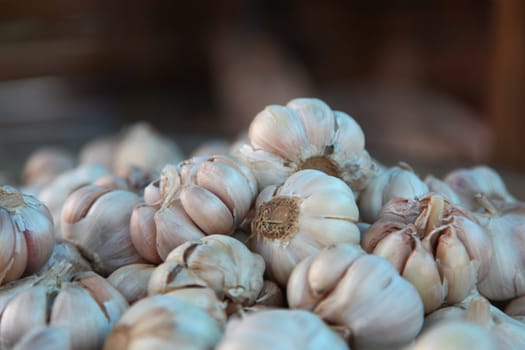
[[[525,170],[521,0],[0,4],[7,171],[139,120],[190,152],[300,96],[352,115],[387,165]]]

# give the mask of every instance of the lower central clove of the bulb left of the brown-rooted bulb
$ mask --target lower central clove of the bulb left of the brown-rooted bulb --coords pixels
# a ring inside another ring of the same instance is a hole
[[[186,185],[180,200],[188,216],[205,233],[231,234],[233,216],[228,207],[212,192],[197,185]]]

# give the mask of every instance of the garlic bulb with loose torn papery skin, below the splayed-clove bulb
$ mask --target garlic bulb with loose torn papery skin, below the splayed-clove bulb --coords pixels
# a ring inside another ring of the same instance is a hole
[[[235,238],[209,235],[181,244],[151,275],[148,294],[209,287],[220,300],[253,305],[263,287],[264,261]]]

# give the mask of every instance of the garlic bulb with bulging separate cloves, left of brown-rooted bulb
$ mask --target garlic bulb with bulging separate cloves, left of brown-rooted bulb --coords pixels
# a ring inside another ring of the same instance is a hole
[[[159,202],[137,206],[130,222],[133,244],[154,263],[184,242],[233,234],[257,195],[251,171],[226,156],[166,165],[157,188],[147,188],[148,202],[156,196]]]

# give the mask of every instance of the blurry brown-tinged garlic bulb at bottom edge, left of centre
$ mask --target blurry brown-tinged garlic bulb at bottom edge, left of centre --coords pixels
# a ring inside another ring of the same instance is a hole
[[[105,350],[209,350],[219,342],[217,322],[201,308],[170,295],[133,304],[106,339]]]

